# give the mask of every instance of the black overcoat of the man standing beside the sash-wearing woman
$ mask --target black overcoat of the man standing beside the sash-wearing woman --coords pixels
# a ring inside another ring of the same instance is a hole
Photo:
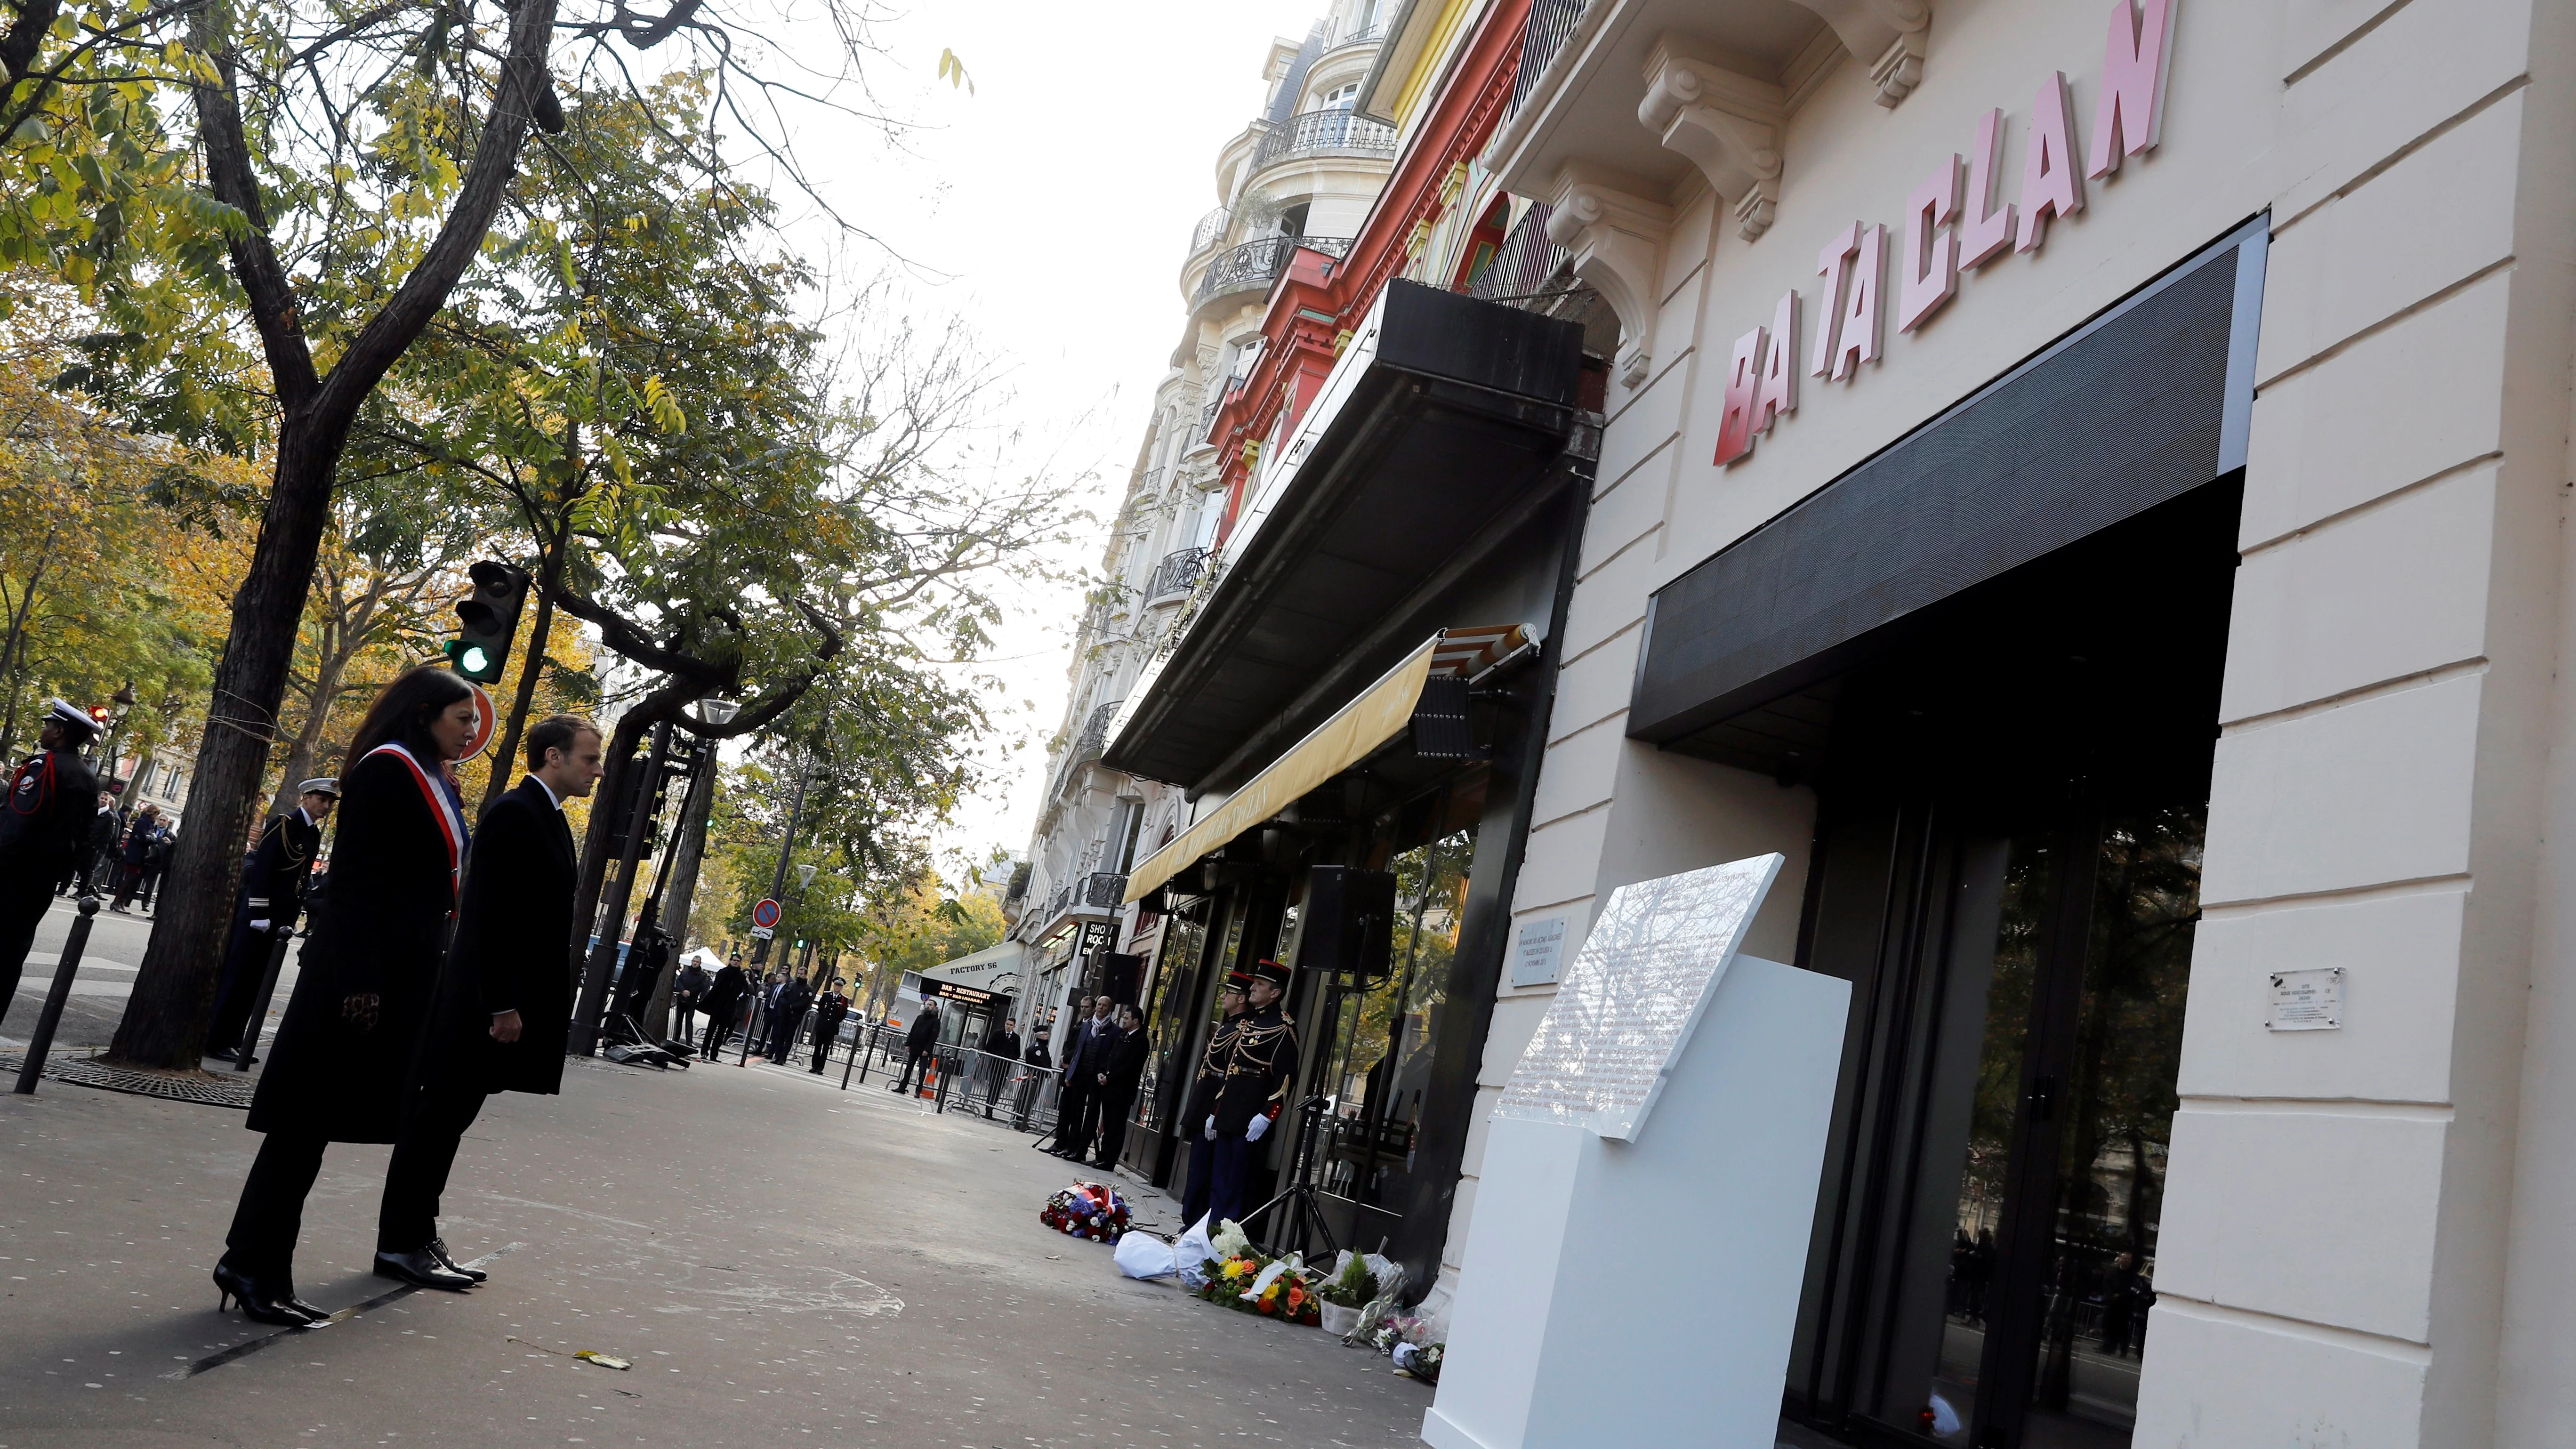
[[[536,776],[492,802],[474,828],[456,949],[438,982],[438,1026],[422,1080],[492,1091],[564,1091],[572,1031],[572,825]],[[518,1042],[492,1016],[518,1013]]]

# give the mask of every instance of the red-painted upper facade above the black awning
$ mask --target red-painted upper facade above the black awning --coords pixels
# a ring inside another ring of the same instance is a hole
[[[1298,250],[1288,273],[1270,291],[1270,312],[1262,317],[1262,356],[1242,387],[1226,394],[1208,428],[1224,456],[1221,477],[1226,482],[1218,541],[1234,531],[1234,518],[1244,505],[1252,472],[1249,446],[1270,438],[1273,431],[1285,438],[1296,428],[1316,392],[1324,389],[1337,338],[1358,327],[1386,278],[1404,271],[1414,227],[1440,219],[1445,206],[1440,188],[1448,173],[1484,150],[1494,126],[1502,124],[1504,106],[1512,101],[1512,80],[1520,75],[1520,31],[1528,13],[1530,0],[1504,0],[1486,10],[1448,85],[1422,119],[1422,129],[1396,157],[1396,170],[1386,178],[1386,191],[1370,206],[1360,235],[1352,237],[1350,255],[1332,260],[1324,253]],[[1280,428],[1283,413],[1285,428]]]

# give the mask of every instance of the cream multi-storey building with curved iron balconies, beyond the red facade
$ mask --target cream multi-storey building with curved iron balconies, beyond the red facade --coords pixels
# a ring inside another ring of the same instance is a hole
[[[1211,420],[1260,356],[1270,289],[1293,266],[1342,255],[1386,180],[1394,131],[1360,116],[1352,98],[1391,8],[1334,0],[1301,41],[1273,41],[1267,103],[1216,157],[1218,204],[1195,224],[1180,268],[1188,315],[1100,559],[1103,588],[1079,624],[1028,871],[1005,900],[1010,938],[1028,946],[1023,1034],[1097,987],[1105,954],[1157,951],[1159,923],[1126,905],[1123,879],[1177,833],[1182,802],[1100,755],[1146,660],[1206,583],[1224,516]]]

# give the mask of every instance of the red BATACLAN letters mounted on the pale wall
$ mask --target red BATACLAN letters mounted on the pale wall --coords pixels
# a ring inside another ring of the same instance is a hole
[[[2048,242],[2048,222],[2084,209],[2084,180],[2120,170],[2123,157],[2156,147],[2164,124],[2164,67],[2172,54],[2174,0],[2112,0],[2110,44],[2102,54],[2102,95],[2094,103],[2092,150],[2076,160],[2074,106],[2066,72],[2040,80],[2022,142],[2020,201],[1996,201],[2004,157],[2004,111],[1976,124],[1976,150],[1953,152],[1906,199],[1896,248],[1896,330],[1911,333],[1958,294],[1960,268],[1976,271],[2004,250],[2035,253]],[[1860,376],[1878,361],[1888,317],[1888,227],[1860,224],[1834,232],[1816,253],[1819,315],[1806,374],[1829,382]],[[1734,464],[1754,451],[1754,438],[1798,410],[1798,291],[1780,297],[1767,327],[1736,338],[1726,361],[1726,410],[1718,415],[1718,456]]]

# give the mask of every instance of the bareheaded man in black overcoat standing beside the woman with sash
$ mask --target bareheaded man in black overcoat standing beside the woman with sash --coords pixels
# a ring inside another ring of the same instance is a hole
[[[554,714],[528,730],[528,776],[495,799],[474,830],[456,944],[412,1073],[410,1122],[384,1173],[379,1263],[435,1263],[484,1279],[459,1269],[438,1238],[438,1194],[484,1096],[564,1091],[580,874],[564,802],[590,794],[598,781],[600,730],[577,714]]]

